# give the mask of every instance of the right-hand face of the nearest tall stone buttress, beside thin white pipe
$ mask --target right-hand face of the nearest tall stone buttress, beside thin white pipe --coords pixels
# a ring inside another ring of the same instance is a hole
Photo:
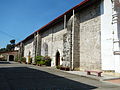
[[[79,14],[74,16],[73,31],[73,69],[80,67],[80,25]]]

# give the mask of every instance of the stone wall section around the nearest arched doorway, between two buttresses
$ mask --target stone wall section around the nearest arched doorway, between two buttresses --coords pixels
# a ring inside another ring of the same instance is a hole
[[[52,28],[41,33],[41,55],[48,55],[52,58],[52,66],[56,66],[56,53],[60,53],[60,64],[63,58],[63,36],[66,33],[64,24],[58,23]]]

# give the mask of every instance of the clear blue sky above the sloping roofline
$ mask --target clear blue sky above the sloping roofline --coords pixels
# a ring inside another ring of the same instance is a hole
[[[0,0],[0,48],[16,43],[83,0]]]

